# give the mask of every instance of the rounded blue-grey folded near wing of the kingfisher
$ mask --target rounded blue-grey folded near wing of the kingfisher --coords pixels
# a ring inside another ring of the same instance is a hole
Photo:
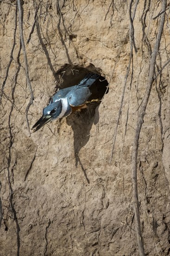
[[[68,94],[68,102],[72,107],[82,106],[88,101],[89,96],[91,95],[88,87],[78,87]]]

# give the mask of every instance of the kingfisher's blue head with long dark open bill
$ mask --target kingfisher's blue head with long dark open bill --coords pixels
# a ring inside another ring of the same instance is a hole
[[[32,129],[34,129],[33,132],[38,131],[46,123],[56,119],[57,117],[59,118],[61,112],[62,112],[62,102],[61,102],[61,100],[56,101],[54,103],[51,103],[50,105],[45,107],[43,109],[42,117],[32,127]]]

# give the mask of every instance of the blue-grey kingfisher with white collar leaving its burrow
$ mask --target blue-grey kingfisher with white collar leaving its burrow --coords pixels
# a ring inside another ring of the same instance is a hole
[[[59,120],[76,110],[87,108],[86,103],[92,95],[92,85],[99,77],[99,74],[88,73],[77,85],[60,89],[52,96],[49,105],[43,109],[42,117],[32,127],[33,132],[50,121]]]

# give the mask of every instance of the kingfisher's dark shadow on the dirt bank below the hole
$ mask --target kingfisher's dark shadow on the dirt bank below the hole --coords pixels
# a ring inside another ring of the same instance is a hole
[[[92,128],[93,123],[97,123],[96,117],[99,116],[98,106],[99,104],[90,104],[87,109],[82,109],[81,112],[77,111],[76,113],[69,115],[66,119],[67,124],[71,126],[74,132],[74,153],[76,167],[79,163],[88,183],[90,183],[90,181],[86,173],[87,169],[82,164],[82,161],[79,156],[79,151],[82,147],[84,147],[87,144],[90,138],[90,130]]]

